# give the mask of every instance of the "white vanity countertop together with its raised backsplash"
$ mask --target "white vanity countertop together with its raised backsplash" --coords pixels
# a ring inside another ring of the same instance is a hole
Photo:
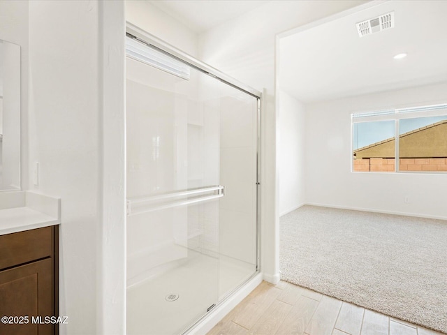
[[[0,235],[59,223],[60,200],[57,198],[29,191],[0,195]]]

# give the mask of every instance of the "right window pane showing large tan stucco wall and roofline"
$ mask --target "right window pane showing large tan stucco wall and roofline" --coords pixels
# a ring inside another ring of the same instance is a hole
[[[447,171],[447,115],[399,121],[399,170]]]

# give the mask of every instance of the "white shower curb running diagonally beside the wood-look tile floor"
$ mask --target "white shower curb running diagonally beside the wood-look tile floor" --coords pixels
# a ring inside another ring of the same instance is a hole
[[[188,335],[205,335],[210,332],[212,327],[217,325],[217,323],[223,319],[237,304],[240,303],[251,291],[253,291],[256,286],[258,286],[263,281],[263,274],[259,273],[248,283],[242,286],[240,290],[235,292],[235,294],[228,298],[223,304],[215,307],[210,315],[207,315],[200,321],[195,327],[193,327],[188,333]]]

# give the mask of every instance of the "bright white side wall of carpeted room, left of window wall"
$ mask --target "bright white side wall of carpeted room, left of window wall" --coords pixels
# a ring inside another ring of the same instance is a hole
[[[305,202],[305,106],[278,91],[279,215]]]

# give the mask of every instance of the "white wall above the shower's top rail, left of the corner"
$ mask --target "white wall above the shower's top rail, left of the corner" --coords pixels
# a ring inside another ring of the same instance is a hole
[[[141,0],[126,0],[126,21],[197,57],[197,34],[152,4]]]

